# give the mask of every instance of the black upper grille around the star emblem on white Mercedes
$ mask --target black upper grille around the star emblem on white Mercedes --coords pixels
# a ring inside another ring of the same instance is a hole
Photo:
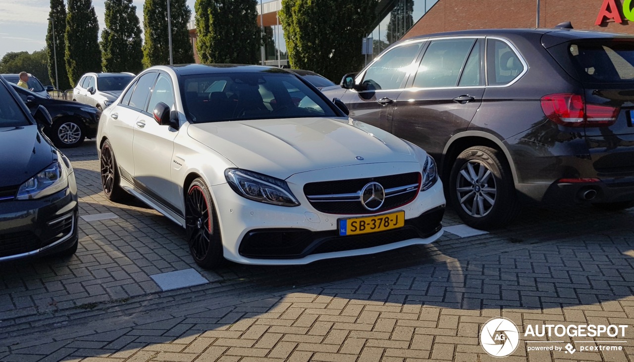
[[[378,210],[369,211],[361,201],[311,201],[309,203],[316,209],[324,213],[335,213],[344,215],[380,213],[391,210],[404,204],[410,203],[418,195],[420,190],[420,173],[410,172],[399,175],[382,177],[354,178],[352,180],[337,180],[325,182],[311,182],[304,185],[304,194],[309,198],[316,195],[354,194],[361,191],[370,182],[378,182],[384,189],[392,189],[405,185],[418,184],[417,189],[400,195],[385,198],[384,203]]]

